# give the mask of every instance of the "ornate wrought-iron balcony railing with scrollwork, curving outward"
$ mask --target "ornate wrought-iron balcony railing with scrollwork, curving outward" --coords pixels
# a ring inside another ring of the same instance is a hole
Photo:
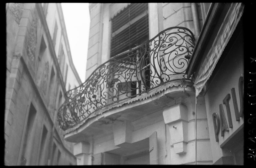
[[[74,127],[103,107],[184,79],[194,47],[195,37],[188,28],[172,27],[116,55],[96,68],[83,84],[66,92],[57,116],[60,127]]]

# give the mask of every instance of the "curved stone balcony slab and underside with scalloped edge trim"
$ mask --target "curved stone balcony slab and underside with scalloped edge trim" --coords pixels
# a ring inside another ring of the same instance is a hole
[[[92,137],[96,139],[106,136],[112,133],[112,126],[116,122],[132,122],[155,112],[162,115],[164,108],[194,95],[193,83],[190,81],[164,84],[138,97],[102,108],[85,122],[66,130],[64,139],[70,142],[81,142],[90,141]]]

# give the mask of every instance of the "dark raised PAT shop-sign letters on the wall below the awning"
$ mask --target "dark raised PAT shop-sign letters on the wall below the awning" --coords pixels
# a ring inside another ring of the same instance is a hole
[[[244,85],[244,78],[243,78],[243,76],[240,76],[239,82],[238,82],[238,90],[239,90],[239,98],[240,98],[240,111],[238,111],[235,88],[231,89],[236,121],[240,121],[240,117],[244,116],[243,85]],[[231,98],[230,94],[228,93],[227,96],[223,99],[223,104],[225,104],[226,109],[227,109],[228,122],[227,122],[222,104],[220,104],[220,117],[219,117],[218,113],[212,114],[216,142],[219,142],[219,133],[220,132],[221,132],[221,136],[224,137],[225,131],[229,131],[229,128],[233,128],[231,111],[230,111],[230,106],[229,106],[230,98]],[[229,128],[228,128],[228,126],[229,126]]]

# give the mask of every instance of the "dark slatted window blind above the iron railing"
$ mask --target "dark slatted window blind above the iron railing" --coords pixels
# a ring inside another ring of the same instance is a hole
[[[130,4],[111,21],[110,57],[148,41],[148,4]]]

